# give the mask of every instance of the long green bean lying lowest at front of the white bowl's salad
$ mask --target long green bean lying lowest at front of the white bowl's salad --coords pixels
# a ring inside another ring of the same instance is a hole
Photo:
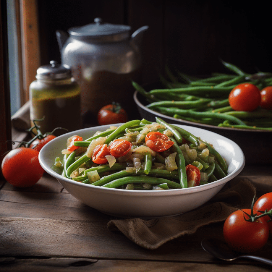
[[[102,185],[101,187],[107,188],[117,188],[121,185],[128,184],[128,183],[149,183],[153,185],[158,185],[161,183],[169,183],[168,179],[158,178],[158,177],[149,177],[149,176],[129,176],[123,177],[120,179],[115,179],[109,183]]]

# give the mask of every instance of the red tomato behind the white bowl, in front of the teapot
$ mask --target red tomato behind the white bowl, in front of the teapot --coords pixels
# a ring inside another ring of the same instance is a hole
[[[97,121],[99,125],[126,123],[128,117],[126,111],[119,103],[113,102],[111,105],[104,106],[98,111]]]

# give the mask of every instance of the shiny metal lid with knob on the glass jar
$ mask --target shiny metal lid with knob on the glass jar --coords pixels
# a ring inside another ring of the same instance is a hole
[[[66,64],[59,64],[51,60],[50,65],[43,65],[37,69],[37,79],[61,80],[72,77],[71,69]]]

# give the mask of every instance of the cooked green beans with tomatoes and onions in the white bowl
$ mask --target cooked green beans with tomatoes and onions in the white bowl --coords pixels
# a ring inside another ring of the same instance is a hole
[[[83,140],[67,140],[55,160],[62,176],[85,184],[125,190],[181,189],[227,175],[213,146],[160,118],[111,126]]]

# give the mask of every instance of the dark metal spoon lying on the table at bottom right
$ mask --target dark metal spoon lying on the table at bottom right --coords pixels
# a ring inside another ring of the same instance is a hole
[[[232,261],[238,258],[247,258],[247,259],[263,262],[268,265],[272,265],[272,260],[258,257],[258,256],[239,254],[238,252],[233,251],[225,242],[218,239],[207,239],[207,238],[203,239],[201,241],[201,245],[205,251],[207,251],[214,257],[219,258],[221,260]]]

